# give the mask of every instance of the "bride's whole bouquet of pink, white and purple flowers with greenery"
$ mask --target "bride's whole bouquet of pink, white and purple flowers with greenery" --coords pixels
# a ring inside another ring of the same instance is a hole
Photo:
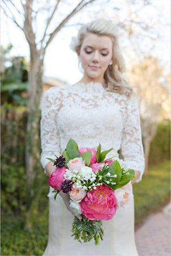
[[[132,197],[131,180],[135,171],[128,170],[122,160],[105,159],[112,149],[102,151],[78,147],[70,139],[66,150],[54,162],[55,171],[48,179],[56,195],[63,191],[70,195],[70,208],[82,219],[74,218],[72,236],[79,242],[103,240],[102,221],[112,219],[119,207],[127,207]]]

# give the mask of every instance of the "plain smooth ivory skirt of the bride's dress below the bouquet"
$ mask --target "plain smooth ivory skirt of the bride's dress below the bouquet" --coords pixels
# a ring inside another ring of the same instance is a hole
[[[71,237],[74,215],[63,199],[49,199],[48,245],[43,256],[138,256],[135,245],[134,201],[127,209],[120,208],[110,221],[103,221],[104,239],[95,246],[93,241],[80,243]]]

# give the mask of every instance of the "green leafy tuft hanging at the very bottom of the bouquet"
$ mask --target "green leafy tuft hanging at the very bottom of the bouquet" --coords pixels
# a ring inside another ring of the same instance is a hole
[[[104,231],[101,228],[102,221],[91,221],[82,214],[82,219],[74,218],[72,223],[71,237],[78,240],[80,243],[84,243],[95,240],[95,245],[99,245],[99,239],[103,240]]]

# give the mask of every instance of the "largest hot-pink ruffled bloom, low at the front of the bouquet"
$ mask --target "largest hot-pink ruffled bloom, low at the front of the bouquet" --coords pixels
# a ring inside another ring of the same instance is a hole
[[[80,202],[80,207],[88,219],[108,221],[116,213],[116,203],[114,190],[102,185],[97,186],[96,190],[88,191],[86,197]]]

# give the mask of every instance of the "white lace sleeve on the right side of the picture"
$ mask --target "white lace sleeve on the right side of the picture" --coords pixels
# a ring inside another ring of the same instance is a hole
[[[125,115],[121,153],[129,168],[140,171],[140,178],[136,181],[139,182],[144,173],[145,162],[141,139],[139,106],[135,94],[132,94],[127,102]]]

